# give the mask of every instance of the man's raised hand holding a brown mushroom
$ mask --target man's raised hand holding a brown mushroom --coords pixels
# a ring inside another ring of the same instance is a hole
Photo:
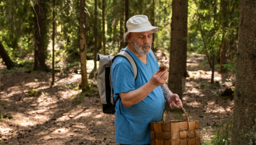
[[[149,83],[153,86],[158,87],[159,85],[163,85],[167,78],[168,78],[168,71],[167,69],[165,71],[156,71],[156,73],[153,74],[151,79],[149,80]]]

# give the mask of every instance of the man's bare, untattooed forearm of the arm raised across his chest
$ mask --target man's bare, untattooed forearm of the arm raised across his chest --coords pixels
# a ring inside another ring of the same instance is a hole
[[[136,90],[130,92],[119,93],[123,105],[126,108],[129,108],[132,105],[135,105],[142,101],[148,96],[157,86],[151,85],[150,82],[147,82],[143,86],[139,87]]]

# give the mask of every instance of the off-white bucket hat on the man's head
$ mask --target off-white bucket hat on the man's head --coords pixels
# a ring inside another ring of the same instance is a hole
[[[152,30],[152,33],[158,31],[158,27],[154,27],[150,24],[148,21],[148,17],[145,15],[136,15],[132,16],[128,21],[126,22],[127,32],[123,35],[123,38],[125,41],[128,41],[126,38],[126,35],[130,32],[145,32]]]

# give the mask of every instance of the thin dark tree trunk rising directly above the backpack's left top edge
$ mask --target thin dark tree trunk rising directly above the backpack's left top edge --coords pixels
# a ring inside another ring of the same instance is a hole
[[[98,0],[94,0],[94,70],[97,69],[97,53],[98,53],[97,4],[98,4]]]

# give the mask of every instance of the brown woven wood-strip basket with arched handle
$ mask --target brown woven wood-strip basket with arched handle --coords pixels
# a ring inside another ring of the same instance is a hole
[[[151,145],[200,145],[199,121],[171,120],[150,122]]]

